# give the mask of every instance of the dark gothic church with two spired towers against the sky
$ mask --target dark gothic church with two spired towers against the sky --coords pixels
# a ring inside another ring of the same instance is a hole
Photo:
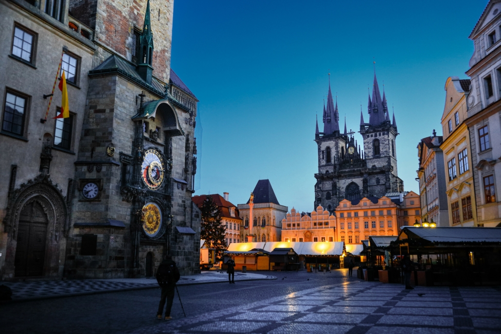
[[[354,132],[339,128],[338,103],[334,106],[331,83],[324,105],[324,132],[319,132],[318,120],[315,141],[318,146],[318,173],[315,174],[315,208],[322,205],[333,212],[343,199],[382,197],[390,192],[403,191],[398,177],[395,138],[398,135],[395,114],[390,121],[386,96],[379,92],[374,73],[372,98],[367,106],[369,122],[364,122],[360,111],[360,134],[363,150],[354,138]]]

